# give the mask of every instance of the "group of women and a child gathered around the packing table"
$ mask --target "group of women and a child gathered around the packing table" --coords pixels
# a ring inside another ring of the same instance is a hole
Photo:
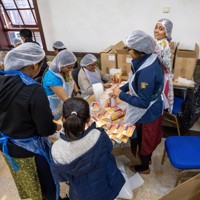
[[[150,173],[151,156],[162,136],[163,110],[171,112],[171,31],[171,21],[161,19],[154,31],[157,45],[139,30],[126,38],[132,58],[129,80],[110,94],[128,103],[125,121],[136,125],[131,149],[141,165],[131,167],[135,172]],[[59,182],[69,182],[70,200],[113,200],[125,179],[105,131],[95,123],[86,129],[90,110],[81,98],[93,93],[94,83],[109,87],[111,77],[98,69],[94,55],[87,54],[77,83],[71,73],[75,55],[59,41],[53,46],[57,55],[43,73],[42,84],[34,80],[45,58],[38,44],[28,41],[7,53],[0,71],[0,149],[21,199],[62,199]],[[72,97],[73,91],[77,97]],[[64,134],[51,145],[48,136],[61,129],[54,122],[60,117]]]

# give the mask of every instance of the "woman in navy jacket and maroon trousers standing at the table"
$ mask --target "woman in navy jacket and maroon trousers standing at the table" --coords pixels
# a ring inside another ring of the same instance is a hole
[[[152,37],[134,31],[127,37],[126,45],[132,57],[129,81],[115,88],[111,95],[128,103],[124,122],[136,125],[137,138],[131,140],[131,149],[134,155],[139,155],[141,165],[131,169],[149,174],[152,153],[162,136],[163,70],[153,54],[156,43]]]

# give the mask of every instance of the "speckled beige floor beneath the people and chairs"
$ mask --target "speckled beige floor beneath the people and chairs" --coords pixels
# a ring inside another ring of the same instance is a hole
[[[200,130],[200,129],[199,129]],[[168,132],[171,132],[169,129]],[[174,130],[172,130],[174,132]],[[189,134],[191,131],[189,132]],[[196,132],[194,132],[196,133]],[[167,132],[165,131],[165,134]],[[199,134],[199,133],[198,133]],[[161,144],[154,151],[152,157],[151,173],[149,175],[141,175],[144,179],[144,184],[139,188],[133,190],[132,200],[158,200],[171,189],[173,189],[177,171],[171,166],[169,160],[166,159],[164,165],[161,165],[161,158],[163,154],[164,139]],[[119,155],[121,151],[118,151]],[[128,157],[130,153],[128,150],[124,152]],[[132,160],[136,162],[136,160]],[[132,171],[126,166],[128,176],[134,175]],[[61,195],[65,194],[66,185],[61,184]],[[9,172],[8,167],[0,153],[0,200],[20,200],[17,193],[14,181]]]

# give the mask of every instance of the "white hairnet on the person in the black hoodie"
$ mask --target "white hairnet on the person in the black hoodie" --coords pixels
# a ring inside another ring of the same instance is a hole
[[[39,63],[45,57],[44,50],[35,43],[26,42],[9,51],[4,59],[4,70],[20,70]]]

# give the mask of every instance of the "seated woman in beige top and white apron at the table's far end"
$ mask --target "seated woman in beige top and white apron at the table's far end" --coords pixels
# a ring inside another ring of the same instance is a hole
[[[110,75],[104,74],[98,69],[97,58],[92,54],[86,54],[80,62],[81,69],[78,74],[78,85],[82,97],[92,95],[92,84],[102,83],[104,88],[109,88]]]

